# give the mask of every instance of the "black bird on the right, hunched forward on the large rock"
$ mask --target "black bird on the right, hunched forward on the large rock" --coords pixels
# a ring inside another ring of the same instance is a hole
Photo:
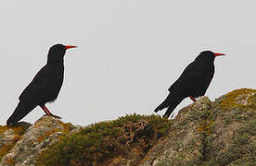
[[[155,113],[168,107],[163,117],[168,118],[176,106],[189,97],[192,101],[203,96],[208,89],[214,75],[214,59],[224,53],[212,53],[211,51],[201,52],[194,62],[186,66],[182,75],[168,89],[170,94],[155,109]]]

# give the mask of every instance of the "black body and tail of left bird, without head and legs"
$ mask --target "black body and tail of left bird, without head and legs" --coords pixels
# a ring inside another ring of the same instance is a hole
[[[53,69],[45,65],[20,94],[19,104],[7,119],[6,124],[17,123],[37,105],[55,100],[63,82],[63,71],[64,68]]]

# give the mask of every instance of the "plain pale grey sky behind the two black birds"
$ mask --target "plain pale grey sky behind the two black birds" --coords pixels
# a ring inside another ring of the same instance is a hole
[[[227,54],[215,60],[211,100],[256,89],[255,6],[255,0],[2,0],[0,125],[55,43],[79,46],[66,53],[62,89],[47,104],[74,125],[152,114],[204,50]],[[22,121],[43,114],[38,107]]]

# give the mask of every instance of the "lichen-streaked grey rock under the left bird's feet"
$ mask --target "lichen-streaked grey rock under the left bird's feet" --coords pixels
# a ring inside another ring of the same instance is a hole
[[[26,132],[17,137],[12,147],[0,162],[5,165],[34,165],[37,155],[47,148],[63,133],[69,133],[75,127],[64,124],[52,116],[43,116],[30,126]],[[9,130],[6,130],[8,132]],[[12,135],[6,135],[13,137]],[[14,136],[15,137],[15,136]]]

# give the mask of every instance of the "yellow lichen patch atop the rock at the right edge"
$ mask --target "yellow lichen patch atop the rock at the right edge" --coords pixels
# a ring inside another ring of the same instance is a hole
[[[224,100],[221,101],[223,110],[228,110],[236,107],[248,107],[255,105],[256,89],[236,89],[224,95]]]

